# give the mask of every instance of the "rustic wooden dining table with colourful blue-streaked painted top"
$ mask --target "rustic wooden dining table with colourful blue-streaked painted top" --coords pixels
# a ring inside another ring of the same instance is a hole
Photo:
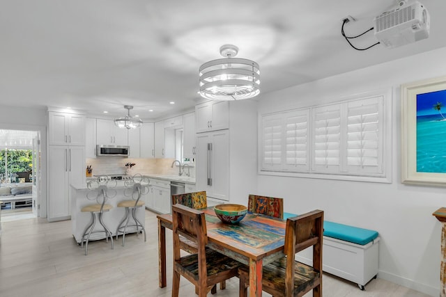
[[[262,296],[262,270],[275,259],[284,257],[286,221],[261,214],[247,214],[236,225],[222,223],[212,208],[206,214],[208,247],[249,265],[249,296]],[[166,287],[166,228],[172,228],[172,216],[158,219],[158,268],[160,287]]]

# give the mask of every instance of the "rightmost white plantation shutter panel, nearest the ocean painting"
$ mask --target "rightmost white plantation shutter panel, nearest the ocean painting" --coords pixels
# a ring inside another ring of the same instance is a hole
[[[347,104],[346,170],[383,173],[383,97]]]

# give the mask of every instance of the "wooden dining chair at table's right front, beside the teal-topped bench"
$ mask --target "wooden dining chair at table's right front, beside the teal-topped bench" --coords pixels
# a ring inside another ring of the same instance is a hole
[[[284,254],[286,257],[263,266],[262,290],[272,296],[322,296],[323,211],[314,210],[286,220]],[[295,253],[313,248],[313,265],[295,260]],[[240,297],[247,296],[249,268],[238,269]]]

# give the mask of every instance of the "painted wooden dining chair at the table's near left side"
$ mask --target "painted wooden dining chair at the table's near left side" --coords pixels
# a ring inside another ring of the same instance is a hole
[[[174,236],[174,275],[172,297],[178,297],[180,276],[197,288],[199,297],[207,296],[215,285],[238,275],[240,262],[206,248],[208,236],[203,211],[182,204],[172,206],[172,234]],[[181,257],[180,236],[197,244],[197,253]]]

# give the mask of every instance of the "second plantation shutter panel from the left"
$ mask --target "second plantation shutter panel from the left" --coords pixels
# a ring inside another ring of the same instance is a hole
[[[293,172],[309,170],[309,109],[286,113],[284,168]]]

